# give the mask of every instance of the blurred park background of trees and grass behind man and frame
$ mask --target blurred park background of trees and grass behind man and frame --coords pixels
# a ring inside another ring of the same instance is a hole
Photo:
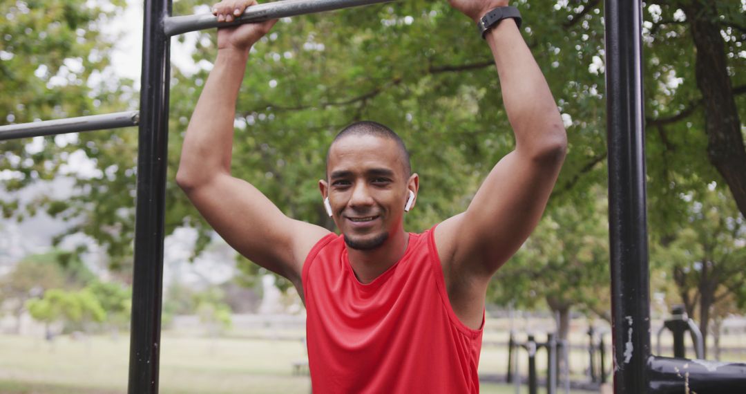
[[[492,383],[506,378],[511,331],[567,340],[580,383],[592,381],[589,328],[610,343],[603,1],[511,4],[569,148],[539,228],[492,281],[483,393],[514,393]],[[643,10],[653,334],[682,304],[707,359],[743,362],[746,1]],[[208,11],[174,3],[175,15]],[[142,4],[0,0],[0,15],[0,125],[137,110]],[[174,182],[215,39],[172,40],[161,391],[307,393],[295,290],[236,256]],[[355,120],[407,142],[421,177],[408,231],[464,210],[513,148],[489,49],[445,0],[283,19],[251,52],[233,174],[296,219],[332,228],[316,184]],[[0,393],[125,393],[136,156],[136,128],[0,143]]]

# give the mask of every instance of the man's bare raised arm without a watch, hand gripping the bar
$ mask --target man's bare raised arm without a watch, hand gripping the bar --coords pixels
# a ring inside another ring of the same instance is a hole
[[[213,13],[231,22],[250,4],[256,1],[222,1]],[[236,251],[298,287],[306,254],[329,231],[290,219],[251,184],[231,176],[233,119],[248,52],[274,24],[218,30],[218,56],[186,129],[176,181]]]

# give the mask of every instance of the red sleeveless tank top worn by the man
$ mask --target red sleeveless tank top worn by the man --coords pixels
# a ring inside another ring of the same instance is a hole
[[[479,393],[482,329],[451,309],[433,229],[410,234],[404,257],[369,284],[329,234],[302,278],[313,393]]]

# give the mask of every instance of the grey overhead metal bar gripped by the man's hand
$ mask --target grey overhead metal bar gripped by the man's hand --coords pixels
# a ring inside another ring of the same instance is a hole
[[[234,26],[251,22],[263,22],[269,19],[279,19],[288,16],[304,15],[306,13],[319,13],[323,11],[339,10],[342,8],[357,7],[377,3],[386,3],[395,0],[282,0],[270,3],[257,4],[246,8],[242,16],[233,22],[218,22],[212,13],[204,13],[189,16],[171,16],[163,19],[163,30],[166,36],[189,31],[198,31],[218,26]]]

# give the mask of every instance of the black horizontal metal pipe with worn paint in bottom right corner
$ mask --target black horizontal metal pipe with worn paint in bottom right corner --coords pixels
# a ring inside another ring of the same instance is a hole
[[[746,363],[653,356],[648,378],[649,394],[746,393]]]

